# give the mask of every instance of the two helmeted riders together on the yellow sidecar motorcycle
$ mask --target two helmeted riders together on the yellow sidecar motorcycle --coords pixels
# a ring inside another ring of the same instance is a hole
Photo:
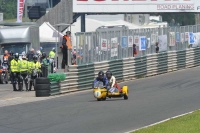
[[[98,77],[94,80],[94,85],[97,83],[97,82],[103,82],[103,85],[108,87],[110,86],[111,88],[114,87],[114,88],[117,88],[118,91],[120,93],[122,93],[122,89],[121,87],[117,84],[116,82],[116,78],[113,76],[112,72],[111,71],[107,71],[106,72],[106,75],[104,75],[104,72],[103,71],[100,71],[98,73]]]

